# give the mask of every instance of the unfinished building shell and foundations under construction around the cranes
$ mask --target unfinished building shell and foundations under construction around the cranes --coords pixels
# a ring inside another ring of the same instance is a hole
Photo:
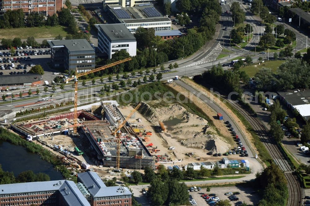
[[[88,109],[90,112],[86,111]],[[121,129],[117,129],[121,142],[119,149],[117,148],[118,135],[115,135],[115,130],[126,119],[117,108],[116,102],[100,102],[97,105],[91,105],[88,109],[77,111],[77,125],[80,128],[79,134],[86,136],[92,153],[96,154],[99,165],[117,169],[144,169],[148,166],[155,168],[155,161],[143,144],[145,138],[143,138],[143,133],[145,131],[136,132],[136,124],[129,124],[126,121]],[[129,114],[127,118],[130,118],[131,115]],[[71,135],[73,127],[74,112],[54,114],[44,119],[18,122],[11,125],[12,129],[24,134],[27,140],[39,141],[45,141],[48,138],[53,139],[55,135]],[[65,151],[62,146],[53,146],[59,148],[61,152],[69,152],[70,149],[75,148],[75,146],[70,147]],[[75,152],[82,154],[78,148],[75,148]],[[119,154],[119,166],[117,165],[117,154]]]

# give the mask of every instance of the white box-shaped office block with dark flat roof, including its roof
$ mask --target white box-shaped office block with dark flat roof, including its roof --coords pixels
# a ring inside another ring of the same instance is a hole
[[[96,24],[98,28],[98,49],[107,53],[108,58],[119,50],[126,50],[130,56],[136,55],[137,41],[124,24]]]

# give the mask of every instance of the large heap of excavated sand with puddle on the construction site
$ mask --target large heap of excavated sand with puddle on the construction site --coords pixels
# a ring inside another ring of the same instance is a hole
[[[178,104],[154,109],[142,103],[139,112],[155,125],[158,125],[158,121],[163,122],[166,132],[161,135],[164,139],[172,138],[188,148],[200,148],[217,153],[227,152],[231,147],[223,138],[216,135],[216,131],[209,127],[207,120],[187,112]]]

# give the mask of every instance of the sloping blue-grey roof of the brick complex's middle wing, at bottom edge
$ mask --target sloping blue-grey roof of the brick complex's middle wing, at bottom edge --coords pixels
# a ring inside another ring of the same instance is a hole
[[[78,189],[78,186],[76,186],[73,181],[64,181],[59,188],[59,192],[68,205],[90,206],[82,192]]]

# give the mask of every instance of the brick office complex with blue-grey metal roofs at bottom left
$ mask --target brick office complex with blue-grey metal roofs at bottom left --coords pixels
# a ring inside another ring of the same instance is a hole
[[[95,172],[78,174],[78,184],[69,180],[0,185],[0,206],[131,206],[127,187],[106,187]]]

